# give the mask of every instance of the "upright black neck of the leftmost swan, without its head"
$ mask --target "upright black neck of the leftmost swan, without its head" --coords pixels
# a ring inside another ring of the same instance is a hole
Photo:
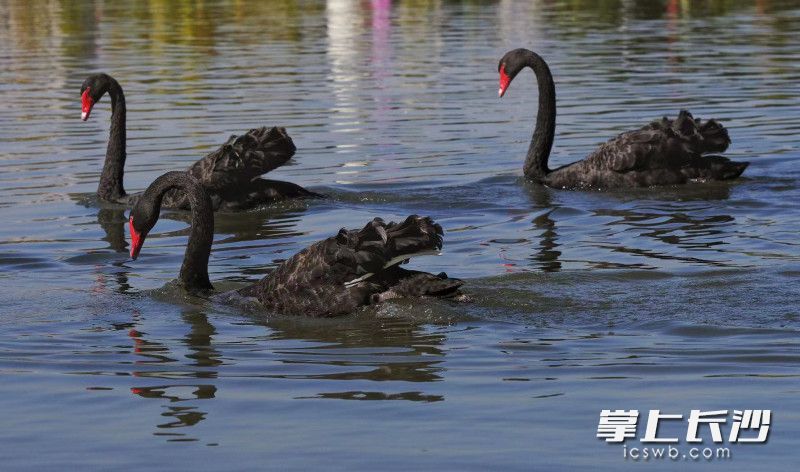
[[[125,94],[119,82],[109,77],[111,96],[111,132],[108,136],[106,161],[100,175],[97,195],[101,200],[117,201],[125,197],[122,176],[125,172]]]

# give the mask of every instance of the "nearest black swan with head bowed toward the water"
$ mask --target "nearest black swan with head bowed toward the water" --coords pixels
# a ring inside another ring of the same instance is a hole
[[[212,203],[202,184],[185,172],[157,178],[131,210],[131,258],[139,255],[170,191],[185,194],[192,212],[179,281],[189,290],[210,290]],[[399,224],[375,218],[361,230],[343,228],[312,244],[260,281],[233,293],[255,298],[271,312],[316,317],[342,315],[397,297],[459,297],[463,281],[400,267],[411,256],[438,252],[441,247],[442,227],[430,218],[412,215]]]

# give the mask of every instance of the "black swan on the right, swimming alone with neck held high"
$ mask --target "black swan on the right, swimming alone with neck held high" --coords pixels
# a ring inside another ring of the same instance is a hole
[[[536,128],[523,169],[531,180],[568,189],[648,187],[735,179],[749,164],[708,155],[728,148],[731,140],[727,130],[713,119],[703,123],[682,110],[676,120],[665,117],[622,133],[586,159],[551,170],[547,158],[556,129],[556,90],[547,63],[527,49],[509,51],[497,66],[499,94],[502,97],[506,93],[525,67],[533,69],[539,84]]]

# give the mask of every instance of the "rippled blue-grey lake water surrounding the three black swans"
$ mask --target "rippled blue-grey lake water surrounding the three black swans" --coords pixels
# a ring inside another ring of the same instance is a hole
[[[767,444],[689,465],[796,463],[800,2],[598,3],[0,4],[2,468],[683,465],[625,460],[595,438],[602,409],[642,411],[639,437],[648,410],[772,409]],[[745,178],[524,182],[533,76],[496,96],[520,46],[556,77],[553,165],[689,108],[728,127]],[[299,151],[274,177],[333,197],[218,217],[218,288],[416,212],[446,243],[414,267],[473,302],[241,313],[170,284],[180,214],[126,262],[124,214],[92,197],[108,99],[78,119],[100,70],[127,95],[128,189],[275,124]]]

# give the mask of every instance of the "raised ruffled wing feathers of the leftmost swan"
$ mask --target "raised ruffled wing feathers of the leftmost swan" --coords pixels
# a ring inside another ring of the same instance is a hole
[[[284,128],[255,128],[232,135],[219,149],[192,165],[189,173],[207,189],[223,191],[282,166],[296,149]]]

